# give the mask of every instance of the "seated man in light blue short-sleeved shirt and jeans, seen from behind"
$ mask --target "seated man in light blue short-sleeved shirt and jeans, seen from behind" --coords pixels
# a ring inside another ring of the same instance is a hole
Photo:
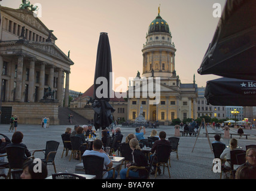
[[[108,168],[112,168],[113,166],[113,162],[111,161],[111,159],[109,159],[109,156],[106,155],[106,152],[102,149],[102,141],[99,139],[96,139],[93,141],[93,150],[86,150],[83,154],[83,156],[86,155],[96,155],[96,156],[100,156],[102,158],[104,158],[104,165],[103,165],[103,169],[106,169],[106,167]],[[113,177],[113,170],[111,171],[103,171],[103,179],[109,179]],[[115,171],[115,178],[117,178],[117,171]]]

